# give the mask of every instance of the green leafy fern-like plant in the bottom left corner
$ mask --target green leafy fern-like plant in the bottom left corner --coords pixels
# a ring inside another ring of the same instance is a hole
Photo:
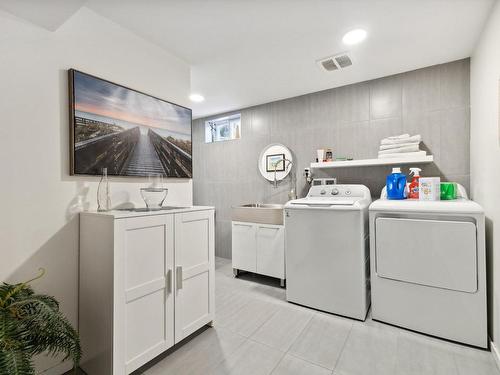
[[[33,356],[63,354],[76,370],[81,357],[78,333],[54,297],[36,294],[29,283],[0,285],[0,374],[35,373]]]

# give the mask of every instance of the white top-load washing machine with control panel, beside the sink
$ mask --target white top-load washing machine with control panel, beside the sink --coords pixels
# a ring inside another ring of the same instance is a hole
[[[368,206],[363,185],[314,185],[285,205],[286,298],[364,320],[370,306]]]

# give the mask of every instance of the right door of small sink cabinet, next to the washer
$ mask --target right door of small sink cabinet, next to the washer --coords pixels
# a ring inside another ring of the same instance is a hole
[[[285,278],[285,231],[277,225],[257,226],[257,273]]]

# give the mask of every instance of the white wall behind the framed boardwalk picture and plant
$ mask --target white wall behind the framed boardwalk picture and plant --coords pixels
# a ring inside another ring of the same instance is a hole
[[[0,281],[31,278],[77,321],[77,204],[95,205],[98,178],[70,177],[68,68],[187,105],[189,66],[82,8],[49,32],[0,12]],[[141,204],[145,180],[111,179],[113,204]],[[167,204],[191,205],[190,180],[169,180]],[[39,370],[54,364],[42,359]],[[68,368],[67,366],[63,366]],[[64,370],[59,367],[59,370]],[[51,373],[58,371],[52,370]]]

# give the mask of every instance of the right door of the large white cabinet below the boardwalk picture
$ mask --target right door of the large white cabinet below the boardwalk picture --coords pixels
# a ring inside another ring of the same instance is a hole
[[[175,214],[175,342],[214,319],[214,211]]]

